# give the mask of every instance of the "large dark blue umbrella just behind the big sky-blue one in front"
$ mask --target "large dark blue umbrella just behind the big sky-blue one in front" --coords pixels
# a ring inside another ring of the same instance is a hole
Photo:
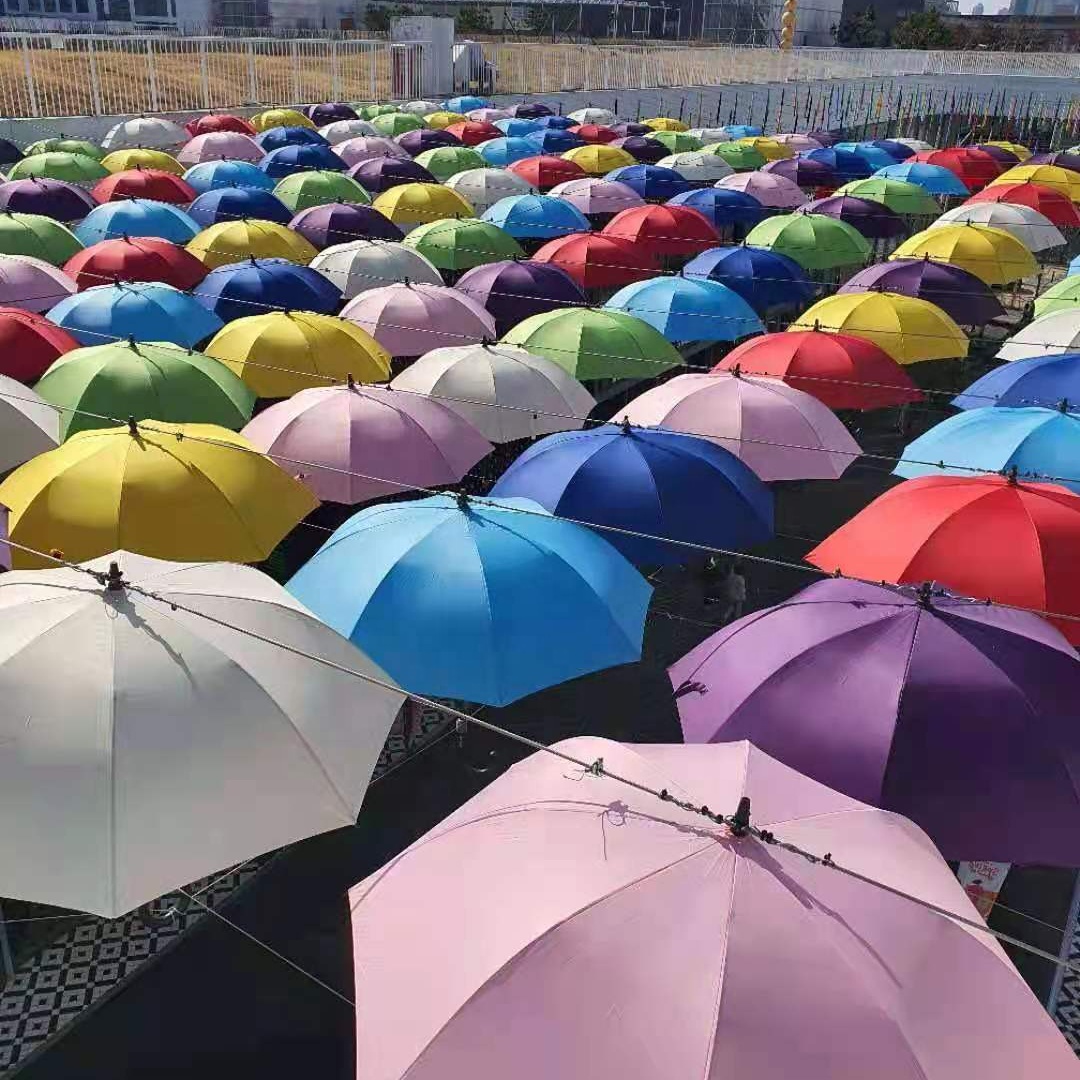
[[[649,566],[686,563],[700,552],[615,530],[711,548],[746,548],[772,536],[772,492],[748,465],[706,438],[658,428],[609,423],[549,435],[491,494],[534,499],[598,526],[631,562]]]

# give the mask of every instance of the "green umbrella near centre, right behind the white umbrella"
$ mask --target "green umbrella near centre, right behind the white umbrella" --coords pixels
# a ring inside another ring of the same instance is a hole
[[[651,379],[685,363],[663,335],[621,311],[544,311],[502,341],[546,356],[578,379]]]

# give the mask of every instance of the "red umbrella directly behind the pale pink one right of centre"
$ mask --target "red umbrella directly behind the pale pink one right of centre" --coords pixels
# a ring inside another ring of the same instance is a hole
[[[769,375],[829,408],[889,408],[922,401],[922,391],[883,349],[850,334],[788,330],[735,346],[714,372]]]

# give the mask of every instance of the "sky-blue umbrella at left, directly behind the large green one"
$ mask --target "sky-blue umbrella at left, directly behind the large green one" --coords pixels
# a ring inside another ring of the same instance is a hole
[[[185,349],[193,349],[225,325],[187,293],[141,281],[95,285],[60,300],[46,318],[83,345],[134,338],[173,341]]]

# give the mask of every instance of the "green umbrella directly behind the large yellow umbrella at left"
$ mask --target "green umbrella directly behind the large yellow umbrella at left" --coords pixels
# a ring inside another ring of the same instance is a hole
[[[80,410],[60,413],[62,440],[114,427],[104,417],[216,423],[235,431],[255,407],[255,394],[219,360],[166,341],[73,349],[45,372],[36,390],[51,405]]]

